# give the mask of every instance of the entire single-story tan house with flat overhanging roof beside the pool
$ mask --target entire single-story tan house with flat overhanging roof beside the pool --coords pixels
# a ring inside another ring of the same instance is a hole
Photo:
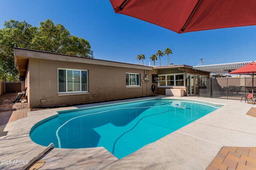
[[[14,58],[30,107],[152,96],[165,89],[187,96],[197,94],[200,76],[209,77],[186,65],[142,66],[17,47]]]

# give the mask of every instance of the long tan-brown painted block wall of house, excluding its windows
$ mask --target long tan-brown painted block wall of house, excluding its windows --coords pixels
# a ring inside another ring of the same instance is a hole
[[[58,94],[58,68],[88,70],[88,94]],[[148,74],[149,82],[140,80],[140,87],[126,87],[126,73]],[[121,68],[96,64],[70,63],[29,59],[26,86],[30,107],[85,104],[152,95],[152,74],[157,70]]]

